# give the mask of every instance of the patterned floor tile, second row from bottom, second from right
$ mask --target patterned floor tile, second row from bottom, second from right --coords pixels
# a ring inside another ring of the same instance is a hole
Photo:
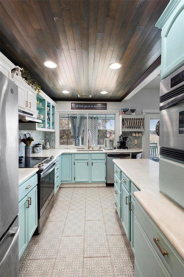
[[[107,236],[85,236],[84,257],[110,256]]]

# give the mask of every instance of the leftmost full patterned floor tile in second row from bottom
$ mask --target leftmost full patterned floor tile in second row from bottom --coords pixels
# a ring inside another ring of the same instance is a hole
[[[60,238],[40,237],[29,256],[29,259],[55,259],[59,243]]]

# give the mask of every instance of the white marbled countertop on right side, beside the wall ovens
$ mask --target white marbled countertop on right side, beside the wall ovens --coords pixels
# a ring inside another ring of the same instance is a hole
[[[133,194],[184,259],[184,210],[159,191],[159,164],[149,159],[113,160],[140,189]]]

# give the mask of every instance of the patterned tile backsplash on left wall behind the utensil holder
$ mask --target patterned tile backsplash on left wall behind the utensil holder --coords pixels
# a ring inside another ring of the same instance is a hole
[[[30,136],[32,136],[34,139],[34,141],[32,141],[32,143],[31,143],[31,153],[33,153],[34,145],[37,143],[41,143],[42,140],[48,141],[50,148],[55,148],[55,132],[19,130],[19,132],[18,132],[19,156],[25,156],[25,153],[24,153],[25,144],[21,142],[21,139],[24,139],[24,134],[26,134],[27,132],[30,133]],[[43,146],[43,148],[44,148],[44,146]]]

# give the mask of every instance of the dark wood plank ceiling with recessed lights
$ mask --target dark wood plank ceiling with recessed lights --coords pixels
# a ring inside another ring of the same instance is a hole
[[[52,99],[91,94],[91,102],[121,101],[159,60],[155,24],[168,2],[1,0],[1,52],[29,70]],[[46,68],[47,60],[58,67]],[[122,67],[111,70],[115,61]],[[100,94],[104,90],[108,94]]]

